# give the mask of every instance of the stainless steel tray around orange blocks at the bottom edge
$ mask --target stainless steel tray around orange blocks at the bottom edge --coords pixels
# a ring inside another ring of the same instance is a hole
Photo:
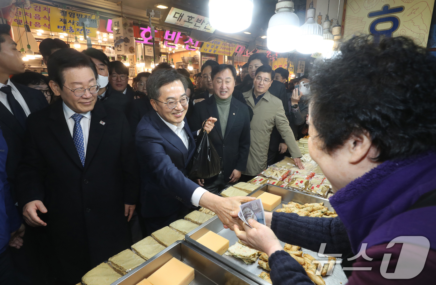
[[[185,241],[174,242],[116,282],[113,282],[112,285],[136,285],[173,257],[194,268],[195,279],[190,285],[225,285],[226,282],[238,285],[255,285],[249,278],[222,264],[215,258],[204,254],[204,252]]]

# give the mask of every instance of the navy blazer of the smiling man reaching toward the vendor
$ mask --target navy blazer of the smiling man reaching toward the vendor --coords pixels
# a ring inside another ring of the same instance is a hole
[[[187,165],[194,155],[194,134],[184,119],[189,149],[160,119],[156,112],[147,113],[136,128],[136,152],[141,172],[142,215],[166,217],[191,208],[191,197],[199,186],[187,179]]]

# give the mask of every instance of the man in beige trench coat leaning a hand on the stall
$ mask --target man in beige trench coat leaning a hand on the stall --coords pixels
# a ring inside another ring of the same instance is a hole
[[[268,92],[274,78],[271,66],[259,66],[254,78],[254,88],[243,93],[247,104],[253,109],[250,127],[250,152],[245,175],[254,176],[266,169],[268,159],[269,137],[274,126],[285,140],[289,152],[300,169],[304,169],[299,147],[295,142],[289,121],[285,116],[282,101]]]

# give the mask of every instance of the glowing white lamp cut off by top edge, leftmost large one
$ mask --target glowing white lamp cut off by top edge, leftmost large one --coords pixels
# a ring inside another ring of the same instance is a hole
[[[252,14],[253,0],[209,0],[211,26],[223,33],[238,33],[247,29],[251,25]]]

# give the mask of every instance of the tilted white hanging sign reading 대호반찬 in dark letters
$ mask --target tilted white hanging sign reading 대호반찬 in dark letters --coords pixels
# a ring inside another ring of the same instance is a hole
[[[174,7],[172,7],[170,13],[168,13],[165,23],[201,30],[208,33],[213,33],[215,31],[215,29],[211,27],[208,17],[200,16]]]

